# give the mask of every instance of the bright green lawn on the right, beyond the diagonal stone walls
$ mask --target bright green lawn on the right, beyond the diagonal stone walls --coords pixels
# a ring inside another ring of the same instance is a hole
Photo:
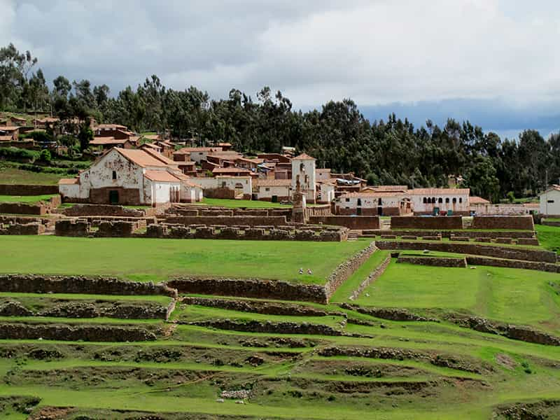
[[[551,286],[552,284],[552,286]],[[556,285],[556,286],[554,286]],[[560,333],[560,274],[524,269],[426,267],[391,262],[356,303],[470,311]],[[367,296],[367,295],[369,296]]]

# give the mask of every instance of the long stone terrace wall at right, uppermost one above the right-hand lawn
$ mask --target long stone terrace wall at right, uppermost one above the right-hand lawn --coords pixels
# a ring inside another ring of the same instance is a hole
[[[449,242],[426,242],[426,241],[376,241],[375,245],[379,249],[389,250],[412,250],[441,251],[451,253],[463,253],[470,255],[483,255],[493,258],[506,258],[509,260],[525,260],[536,262],[556,263],[556,253],[551,251],[540,251],[536,249],[526,249],[514,246],[491,246]]]

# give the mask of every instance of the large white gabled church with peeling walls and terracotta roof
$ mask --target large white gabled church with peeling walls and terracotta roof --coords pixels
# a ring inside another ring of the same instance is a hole
[[[75,179],[61,179],[65,201],[148,205],[179,202],[196,189],[165,156],[146,150],[112,148]],[[201,195],[202,197],[202,195]]]

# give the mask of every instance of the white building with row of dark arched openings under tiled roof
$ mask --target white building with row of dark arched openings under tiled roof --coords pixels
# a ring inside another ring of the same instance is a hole
[[[469,188],[415,188],[407,194],[416,215],[470,214]]]

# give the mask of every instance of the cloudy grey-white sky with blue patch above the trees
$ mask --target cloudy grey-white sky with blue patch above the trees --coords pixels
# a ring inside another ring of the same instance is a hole
[[[0,45],[111,92],[157,74],[211,97],[267,85],[296,109],[560,129],[557,0],[0,0]]]

